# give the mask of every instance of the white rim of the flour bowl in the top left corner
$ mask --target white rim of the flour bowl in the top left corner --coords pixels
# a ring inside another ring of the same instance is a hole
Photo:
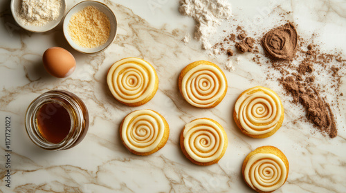
[[[39,28],[42,28],[42,30],[32,30],[30,28],[30,26],[26,26],[24,24],[22,24],[21,22],[19,22],[17,14],[16,14],[16,10],[15,10],[15,1],[19,1],[19,0],[11,0],[11,5],[10,5],[10,9],[12,12],[12,17],[15,19],[16,23],[18,24],[18,26],[20,26],[21,28],[23,28],[24,30],[28,30],[29,32],[35,32],[35,33],[42,33],[42,32],[48,32],[49,30],[52,30],[53,28],[55,28],[57,25],[59,25],[60,21],[62,21],[62,19],[64,19],[64,15],[66,12],[66,0],[60,0],[62,1],[62,17],[60,19],[54,20],[54,21],[49,21],[49,22],[54,22],[54,25],[51,26],[51,28],[45,28],[45,26],[40,26]],[[59,15],[60,17],[61,15]]]

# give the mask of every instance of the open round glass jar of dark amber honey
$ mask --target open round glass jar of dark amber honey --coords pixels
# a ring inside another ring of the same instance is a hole
[[[89,113],[75,94],[51,90],[30,103],[25,124],[31,141],[40,148],[67,150],[84,139]]]

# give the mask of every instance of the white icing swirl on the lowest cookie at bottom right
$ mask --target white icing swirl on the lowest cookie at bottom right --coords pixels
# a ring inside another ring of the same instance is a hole
[[[286,174],[286,166],[278,156],[254,154],[246,163],[244,179],[254,190],[272,192],[284,184]]]

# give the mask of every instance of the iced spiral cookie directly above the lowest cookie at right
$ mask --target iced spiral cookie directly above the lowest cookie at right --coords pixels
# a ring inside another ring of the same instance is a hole
[[[273,130],[276,132],[283,119],[284,108],[280,98],[268,88],[250,88],[244,91],[235,103],[235,122],[246,134],[268,134]]]

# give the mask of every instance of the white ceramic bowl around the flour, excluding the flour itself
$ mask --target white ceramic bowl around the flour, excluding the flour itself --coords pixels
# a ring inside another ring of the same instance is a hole
[[[25,30],[28,30],[30,32],[46,32],[48,30],[51,30],[57,26],[57,24],[62,21],[62,18],[64,18],[64,14],[66,11],[66,1],[60,0],[62,2],[62,6],[60,7],[60,14],[59,17],[53,21],[49,21],[44,26],[26,26],[21,21],[19,21],[19,8],[20,3],[22,0],[12,0],[11,1],[11,12],[13,15],[13,18],[15,18],[15,21],[18,23],[21,28],[24,28]]]

